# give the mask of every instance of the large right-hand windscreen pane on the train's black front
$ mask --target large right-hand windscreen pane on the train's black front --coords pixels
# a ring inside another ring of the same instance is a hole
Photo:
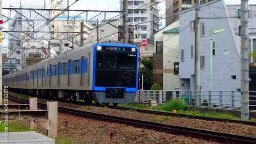
[[[118,53],[117,54],[117,70],[136,70],[137,56],[136,54]]]

